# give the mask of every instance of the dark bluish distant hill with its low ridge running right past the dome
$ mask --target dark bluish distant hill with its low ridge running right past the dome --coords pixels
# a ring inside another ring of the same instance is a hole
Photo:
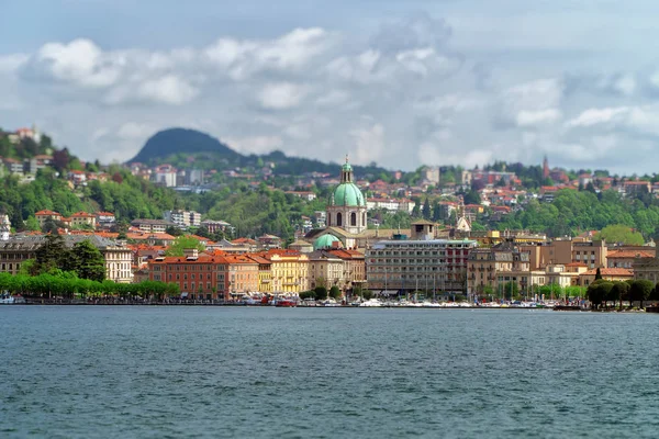
[[[154,134],[146,140],[139,153],[129,160],[129,162],[135,161],[149,166],[167,162],[181,168],[193,166],[217,170],[235,167],[259,168],[272,164],[275,165],[272,171],[276,175],[291,176],[305,172],[336,173],[338,167],[336,162],[327,164],[302,157],[289,157],[278,150],[265,155],[242,155],[215,137],[187,128],[169,128]],[[376,164],[354,168],[359,176],[379,176],[389,172]]]

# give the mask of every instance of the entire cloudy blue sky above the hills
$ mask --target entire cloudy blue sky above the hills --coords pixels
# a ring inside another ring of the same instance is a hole
[[[0,0],[0,127],[102,162],[244,154],[651,173],[659,2]]]

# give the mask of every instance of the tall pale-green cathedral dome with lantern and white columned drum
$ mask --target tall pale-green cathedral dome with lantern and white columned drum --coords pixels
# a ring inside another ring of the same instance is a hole
[[[367,209],[364,194],[354,181],[353,167],[346,156],[346,162],[340,168],[340,183],[334,189],[327,205],[327,226],[359,234],[367,228]]]

